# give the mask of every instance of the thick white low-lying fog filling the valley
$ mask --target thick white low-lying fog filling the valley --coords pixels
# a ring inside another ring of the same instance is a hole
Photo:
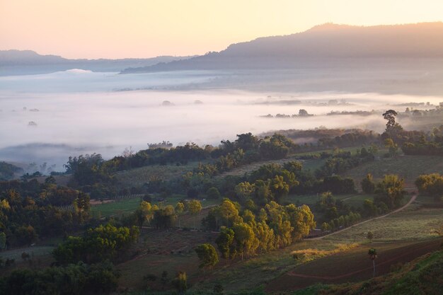
[[[403,111],[405,106],[393,105],[442,101],[439,97],[376,93],[198,90],[199,83],[215,77],[214,72],[119,75],[82,70],[0,77],[0,161],[46,161],[63,170],[68,156],[96,152],[109,158],[130,146],[137,151],[163,140],[174,145],[188,141],[217,145],[243,132],[321,126],[381,132],[385,124],[381,115],[326,113],[389,108]],[[173,90],[180,85],[187,85],[187,89],[195,86],[196,90]],[[328,104],[329,100],[338,100],[338,104]],[[300,109],[315,116],[260,117],[293,115]]]

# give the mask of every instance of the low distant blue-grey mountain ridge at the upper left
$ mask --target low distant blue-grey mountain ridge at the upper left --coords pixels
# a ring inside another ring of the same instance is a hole
[[[57,55],[41,55],[32,50],[0,50],[0,76],[45,74],[67,69],[122,71],[129,67],[151,66],[190,57],[153,57],[149,59],[65,59]]]

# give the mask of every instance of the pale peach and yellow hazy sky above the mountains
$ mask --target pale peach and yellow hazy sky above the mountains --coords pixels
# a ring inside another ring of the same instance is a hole
[[[69,58],[204,54],[321,23],[443,21],[442,0],[0,0],[0,50]]]

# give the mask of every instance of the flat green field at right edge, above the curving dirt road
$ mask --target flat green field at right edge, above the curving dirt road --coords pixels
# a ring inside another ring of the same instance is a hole
[[[421,174],[443,173],[442,156],[398,156],[398,158],[383,158],[381,161],[364,163],[343,173],[343,176],[353,178],[357,185],[371,173],[374,178],[383,178],[385,174],[397,174],[405,178],[408,186],[414,186],[414,181]]]

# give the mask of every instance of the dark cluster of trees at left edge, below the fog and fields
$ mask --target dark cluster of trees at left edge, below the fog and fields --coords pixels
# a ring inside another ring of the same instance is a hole
[[[62,205],[73,206],[71,210],[56,207]],[[89,209],[88,195],[51,181],[0,183],[0,232],[6,236],[7,248],[81,229],[89,220]]]

